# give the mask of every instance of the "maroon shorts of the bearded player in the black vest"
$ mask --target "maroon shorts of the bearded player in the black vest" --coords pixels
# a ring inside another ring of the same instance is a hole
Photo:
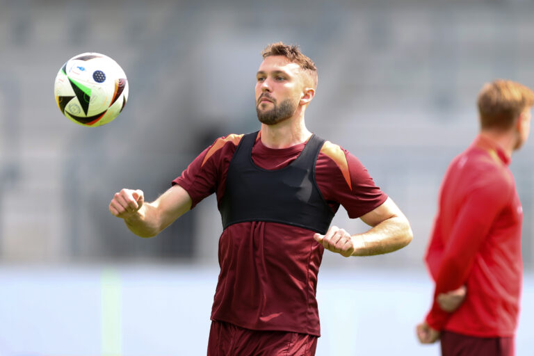
[[[212,321],[208,356],[314,356],[317,337],[298,332],[243,329]]]

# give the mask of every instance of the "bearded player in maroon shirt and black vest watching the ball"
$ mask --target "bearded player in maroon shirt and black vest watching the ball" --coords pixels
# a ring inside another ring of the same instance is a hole
[[[149,237],[216,193],[224,229],[210,356],[314,355],[324,249],[366,256],[412,240],[407,219],[362,163],[305,127],[317,84],[312,60],[282,43],[262,54],[257,133],[215,140],[154,202],[122,189],[109,205],[133,233]],[[340,204],[372,228],[351,235],[330,227]]]

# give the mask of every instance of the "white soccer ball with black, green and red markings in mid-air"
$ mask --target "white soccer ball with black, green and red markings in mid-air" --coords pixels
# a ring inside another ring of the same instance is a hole
[[[54,95],[63,115],[76,124],[95,127],[120,114],[128,99],[128,81],[115,60],[87,52],[60,68]]]

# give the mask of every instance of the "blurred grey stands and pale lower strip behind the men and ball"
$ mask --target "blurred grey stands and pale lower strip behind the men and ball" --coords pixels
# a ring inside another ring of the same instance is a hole
[[[483,83],[534,87],[533,16],[529,0],[0,0],[0,356],[206,354],[214,197],[150,239],[108,203],[121,188],[154,200],[213,140],[256,130],[260,52],[280,40],[318,67],[307,127],[355,154],[414,231],[392,254],[325,252],[317,355],[439,355],[414,336],[439,184],[478,132]],[[87,51],[128,76],[129,102],[103,127],[54,99],[60,67]],[[518,355],[533,355],[533,152],[510,165],[524,210]],[[342,209],[334,224],[366,229]]]

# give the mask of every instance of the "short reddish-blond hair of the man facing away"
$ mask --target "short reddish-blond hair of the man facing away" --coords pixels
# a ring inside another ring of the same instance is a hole
[[[498,79],[483,86],[477,105],[482,129],[510,129],[534,105],[534,92],[515,81]]]

